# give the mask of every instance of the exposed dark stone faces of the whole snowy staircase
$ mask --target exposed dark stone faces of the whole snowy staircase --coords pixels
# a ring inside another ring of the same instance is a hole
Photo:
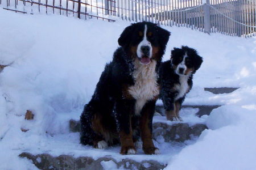
[[[228,94],[238,88],[204,88],[205,91],[213,94]],[[221,105],[184,105],[183,108],[197,108],[199,111],[197,116],[209,115],[213,109]],[[164,116],[163,105],[156,105],[156,112]],[[154,122],[152,125],[153,138],[155,141],[162,142],[185,142],[194,137],[199,137],[202,131],[208,129],[204,124],[189,125],[187,122]],[[69,121],[69,129],[72,133],[80,131],[80,122],[76,120]],[[171,144],[170,144],[171,145]],[[134,155],[133,159],[124,158],[116,160],[111,155],[106,155],[98,159],[93,159],[89,156],[74,158],[71,155],[51,156],[49,154],[32,155],[28,152],[23,152],[19,155],[22,158],[27,158],[32,161],[39,169],[104,169],[104,164],[114,164],[117,168],[122,169],[163,169],[167,164],[160,163],[158,159],[137,161]]]

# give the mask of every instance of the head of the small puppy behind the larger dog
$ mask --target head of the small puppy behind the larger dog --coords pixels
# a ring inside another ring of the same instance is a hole
[[[181,48],[174,48],[171,51],[171,61],[176,74],[189,75],[196,73],[203,62],[203,58],[197,54],[195,49],[181,46]]]

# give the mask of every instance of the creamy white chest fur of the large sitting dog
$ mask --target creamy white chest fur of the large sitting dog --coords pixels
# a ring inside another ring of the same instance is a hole
[[[133,78],[134,86],[129,87],[129,94],[136,100],[135,114],[139,115],[141,109],[147,101],[159,95],[159,86],[156,82],[157,74],[155,71],[156,61],[153,60],[148,65],[142,65],[138,59],[134,61]]]

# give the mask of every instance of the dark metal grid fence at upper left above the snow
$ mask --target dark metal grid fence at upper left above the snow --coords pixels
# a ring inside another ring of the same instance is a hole
[[[111,5],[111,6],[110,6]],[[59,14],[81,19],[97,18],[114,22],[112,0],[0,0],[0,7],[23,14]]]

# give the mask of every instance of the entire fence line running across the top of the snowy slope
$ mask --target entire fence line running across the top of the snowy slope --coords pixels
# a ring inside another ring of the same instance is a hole
[[[256,36],[256,0],[0,0],[7,10],[114,22],[150,21],[230,36]]]

